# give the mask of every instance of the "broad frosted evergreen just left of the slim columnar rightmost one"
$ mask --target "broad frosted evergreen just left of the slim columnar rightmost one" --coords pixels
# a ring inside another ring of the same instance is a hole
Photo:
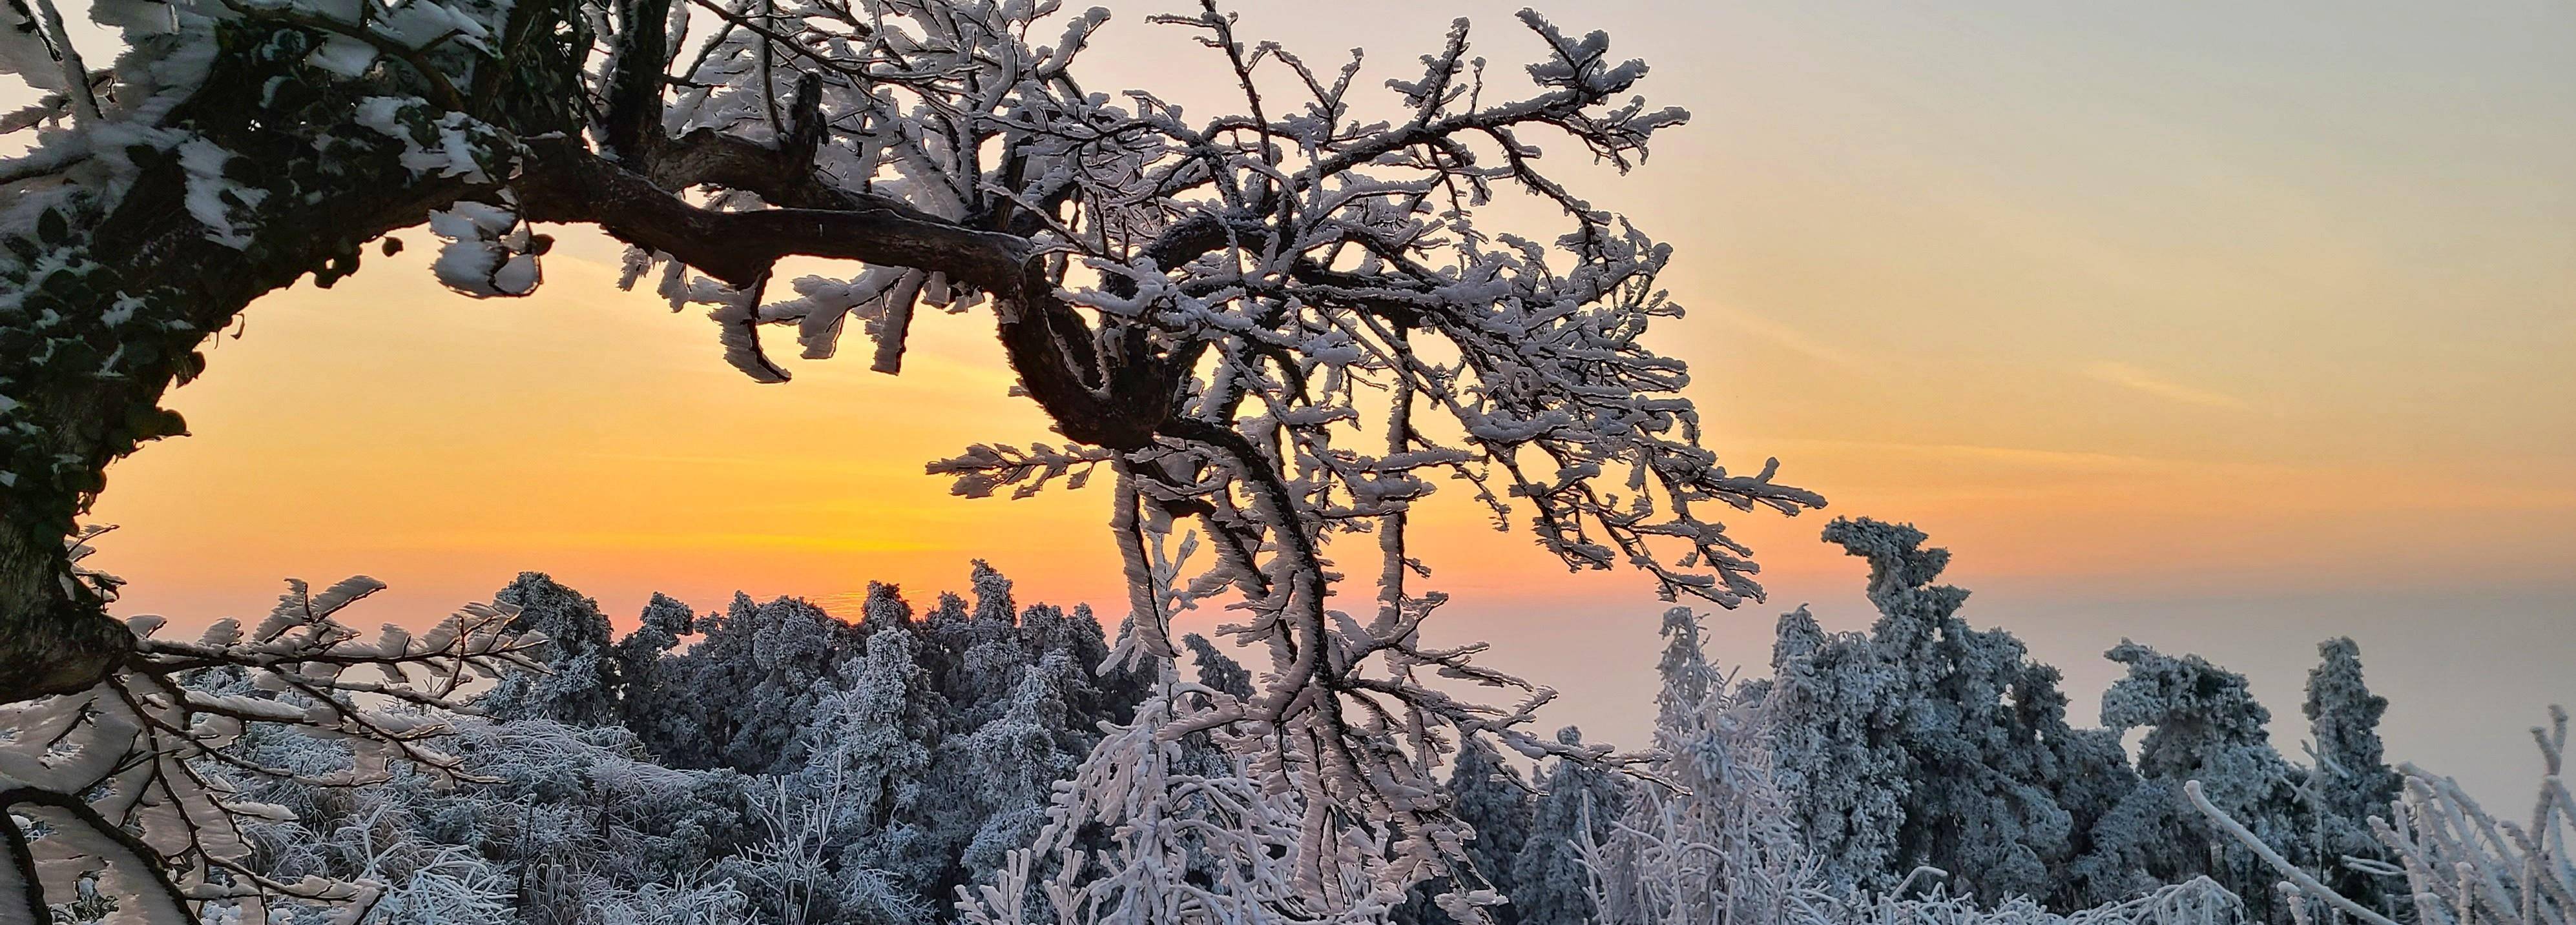
[[[2146,892],[2210,876],[2257,912],[2272,897],[2272,873],[2246,848],[2208,827],[2184,796],[2200,781],[2208,799],[2272,845],[2303,845],[2298,786],[2306,776],[2272,750],[2272,719],[2246,678],[2197,654],[2169,657],[2136,642],[2107,652],[2128,675],[2102,693],[2102,724],[2148,727],[2138,745],[2141,783],[2094,825],[2079,876],[2105,889]],[[2313,866],[2308,850],[2293,858]]]

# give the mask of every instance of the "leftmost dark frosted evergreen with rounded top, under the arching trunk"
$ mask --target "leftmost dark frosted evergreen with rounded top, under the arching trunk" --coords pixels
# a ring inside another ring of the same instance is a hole
[[[513,631],[546,636],[546,672],[510,675],[482,701],[497,719],[544,716],[582,727],[618,724],[618,657],[600,603],[546,572],[518,572],[492,595],[518,606]]]

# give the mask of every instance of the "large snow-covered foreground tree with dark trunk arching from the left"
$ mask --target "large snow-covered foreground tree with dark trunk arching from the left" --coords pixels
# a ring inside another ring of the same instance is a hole
[[[1358,59],[1319,72],[1213,5],[1154,18],[1239,80],[1234,113],[1193,121],[1084,88],[1074,64],[1105,13],[1054,3],[108,0],[93,18],[126,52],[106,75],[67,52],[49,3],[5,13],[64,57],[5,59],[62,93],[0,170],[21,193],[0,214],[0,703],[129,665],[108,587],[64,539],[108,461],[183,430],[160,397],[204,368],[196,345],[422,219],[446,240],[438,278],[471,296],[541,283],[541,224],[598,224],[634,245],[629,283],[659,271],[675,307],[714,307],[760,381],[788,379],[762,325],[796,325],[822,358],[855,317],[873,366],[899,371],[922,304],[989,304],[1061,446],[971,446],[933,472],[1025,495],[1108,466],[1133,613],[1159,613],[1149,536],[1203,531],[1216,564],[1182,585],[1242,595],[1231,634],[1275,662],[1206,721],[1298,750],[1278,768],[1316,773],[1273,783],[1386,827],[1399,879],[1458,850],[1425,799],[1450,737],[1607,760],[1520,729],[1543,693],[1473,667],[1473,647],[1419,647],[1440,598],[1406,587],[1404,515],[1427,474],[1517,510],[1571,567],[1636,564],[1726,606],[1762,590],[1705,513],[1821,505],[1700,446],[1685,366],[1643,345],[1680,312],[1656,289],[1669,247],[1566,188],[1535,144],[1628,167],[1685,113],[1636,98],[1646,64],[1607,36],[1535,13],[1528,85],[1489,82],[1461,21],[1383,100],[1355,93]],[[683,54],[693,13],[716,23]],[[1553,206],[1561,234],[1481,227],[1494,196]],[[791,255],[863,265],[773,286]],[[1381,562],[1376,613],[1352,618],[1329,606],[1324,541],[1358,531]],[[1167,626],[1141,642],[1175,652]],[[1414,667],[1525,698],[1466,703]],[[783,742],[768,729],[706,747],[755,760]]]

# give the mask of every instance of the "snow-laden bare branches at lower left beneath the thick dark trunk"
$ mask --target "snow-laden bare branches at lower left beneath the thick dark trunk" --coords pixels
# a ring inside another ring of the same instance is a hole
[[[340,621],[376,590],[384,582],[363,575],[319,593],[289,582],[268,618],[247,629],[224,618],[196,642],[155,639],[162,618],[137,616],[126,670],[90,691],[0,706],[0,837],[21,873],[0,876],[0,907],[44,920],[49,899],[95,879],[131,922],[198,922],[204,904],[265,920],[270,899],[343,904],[355,920],[376,884],[258,873],[240,822],[294,814],[240,799],[229,781],[366,786],[394,763],[471,781],[430,745],[448,732],[435,716],[466,711],[469,683],[541,670],[531,652],[544,644],[510,629],[510,606],[474,603],[425,634]],[[247,763],[227,747],[252,727],[343,742],[348,763],[319,773]]]

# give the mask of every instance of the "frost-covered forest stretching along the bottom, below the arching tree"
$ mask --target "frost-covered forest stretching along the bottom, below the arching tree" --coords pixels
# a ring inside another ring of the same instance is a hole
[[[2558,760],[2530,825],[2391,765],[2349,639],[2318,644],[2300,755],[2269,739],[2244,678],[2120,644],[2099,727],[2066,716],[2058,670],[1960,618],[1947,551],[1906,526],[1837,520],[1870,564],[1878,618],[1826,634],[1780,616],[1770,670],[1713,660],[1700,613],[1662,618],[1649,758],[1522,760],[1466,739],[1435,799],[1466,861],[1381,892],[1373,835],[1311,843],[1309,804],[1265,786],[1260,747],[1203,719],[1255,698],[1226,647],[1126,647],[1090,608],[1020,603],[976,564],[971,598],[914,606],[871,585],[860,613],[737,595],[654,598],[616,636],[598,603],[526,572],[492,639],[544,639],[471,709],[397,703],[404,747],[294,716],[327,698],[240,665],[175,696],[247,724],[193,758],[237,819],[204,920],[368,922],[1453,922],[1432,897],[1492,892],[1494,922],[2550,922],[2566,910]],[[252,631],[343,621],[301,587]],[[144,634],[149,624],[137,626]],[[1131,634],[1126,626],[1121,634]],[[224,621],[201,644],[240,636]],[[23,729],[39,711],[13,716]],[[384,721],[384,719],[379,719]],[[2143,729],[2130,752],[2120,739]],[[2285,727],[2290,729],[2290,727]],[[1558,732],[1577,747],[1577,729]],[[13,773],[46,765],[26,734]],[[113,776],[113,773],[111,773]],[[39,778],[31,778],[39,781]],[[70,835],[44,806],[13,822]],[[93,855],[93,863],[108,861]],[[59,863],[59,858],[57,858]],[[113,863],[44,871],[54,922],[106,922]],[[1466,884],[1458,884],[1466,881]]]

